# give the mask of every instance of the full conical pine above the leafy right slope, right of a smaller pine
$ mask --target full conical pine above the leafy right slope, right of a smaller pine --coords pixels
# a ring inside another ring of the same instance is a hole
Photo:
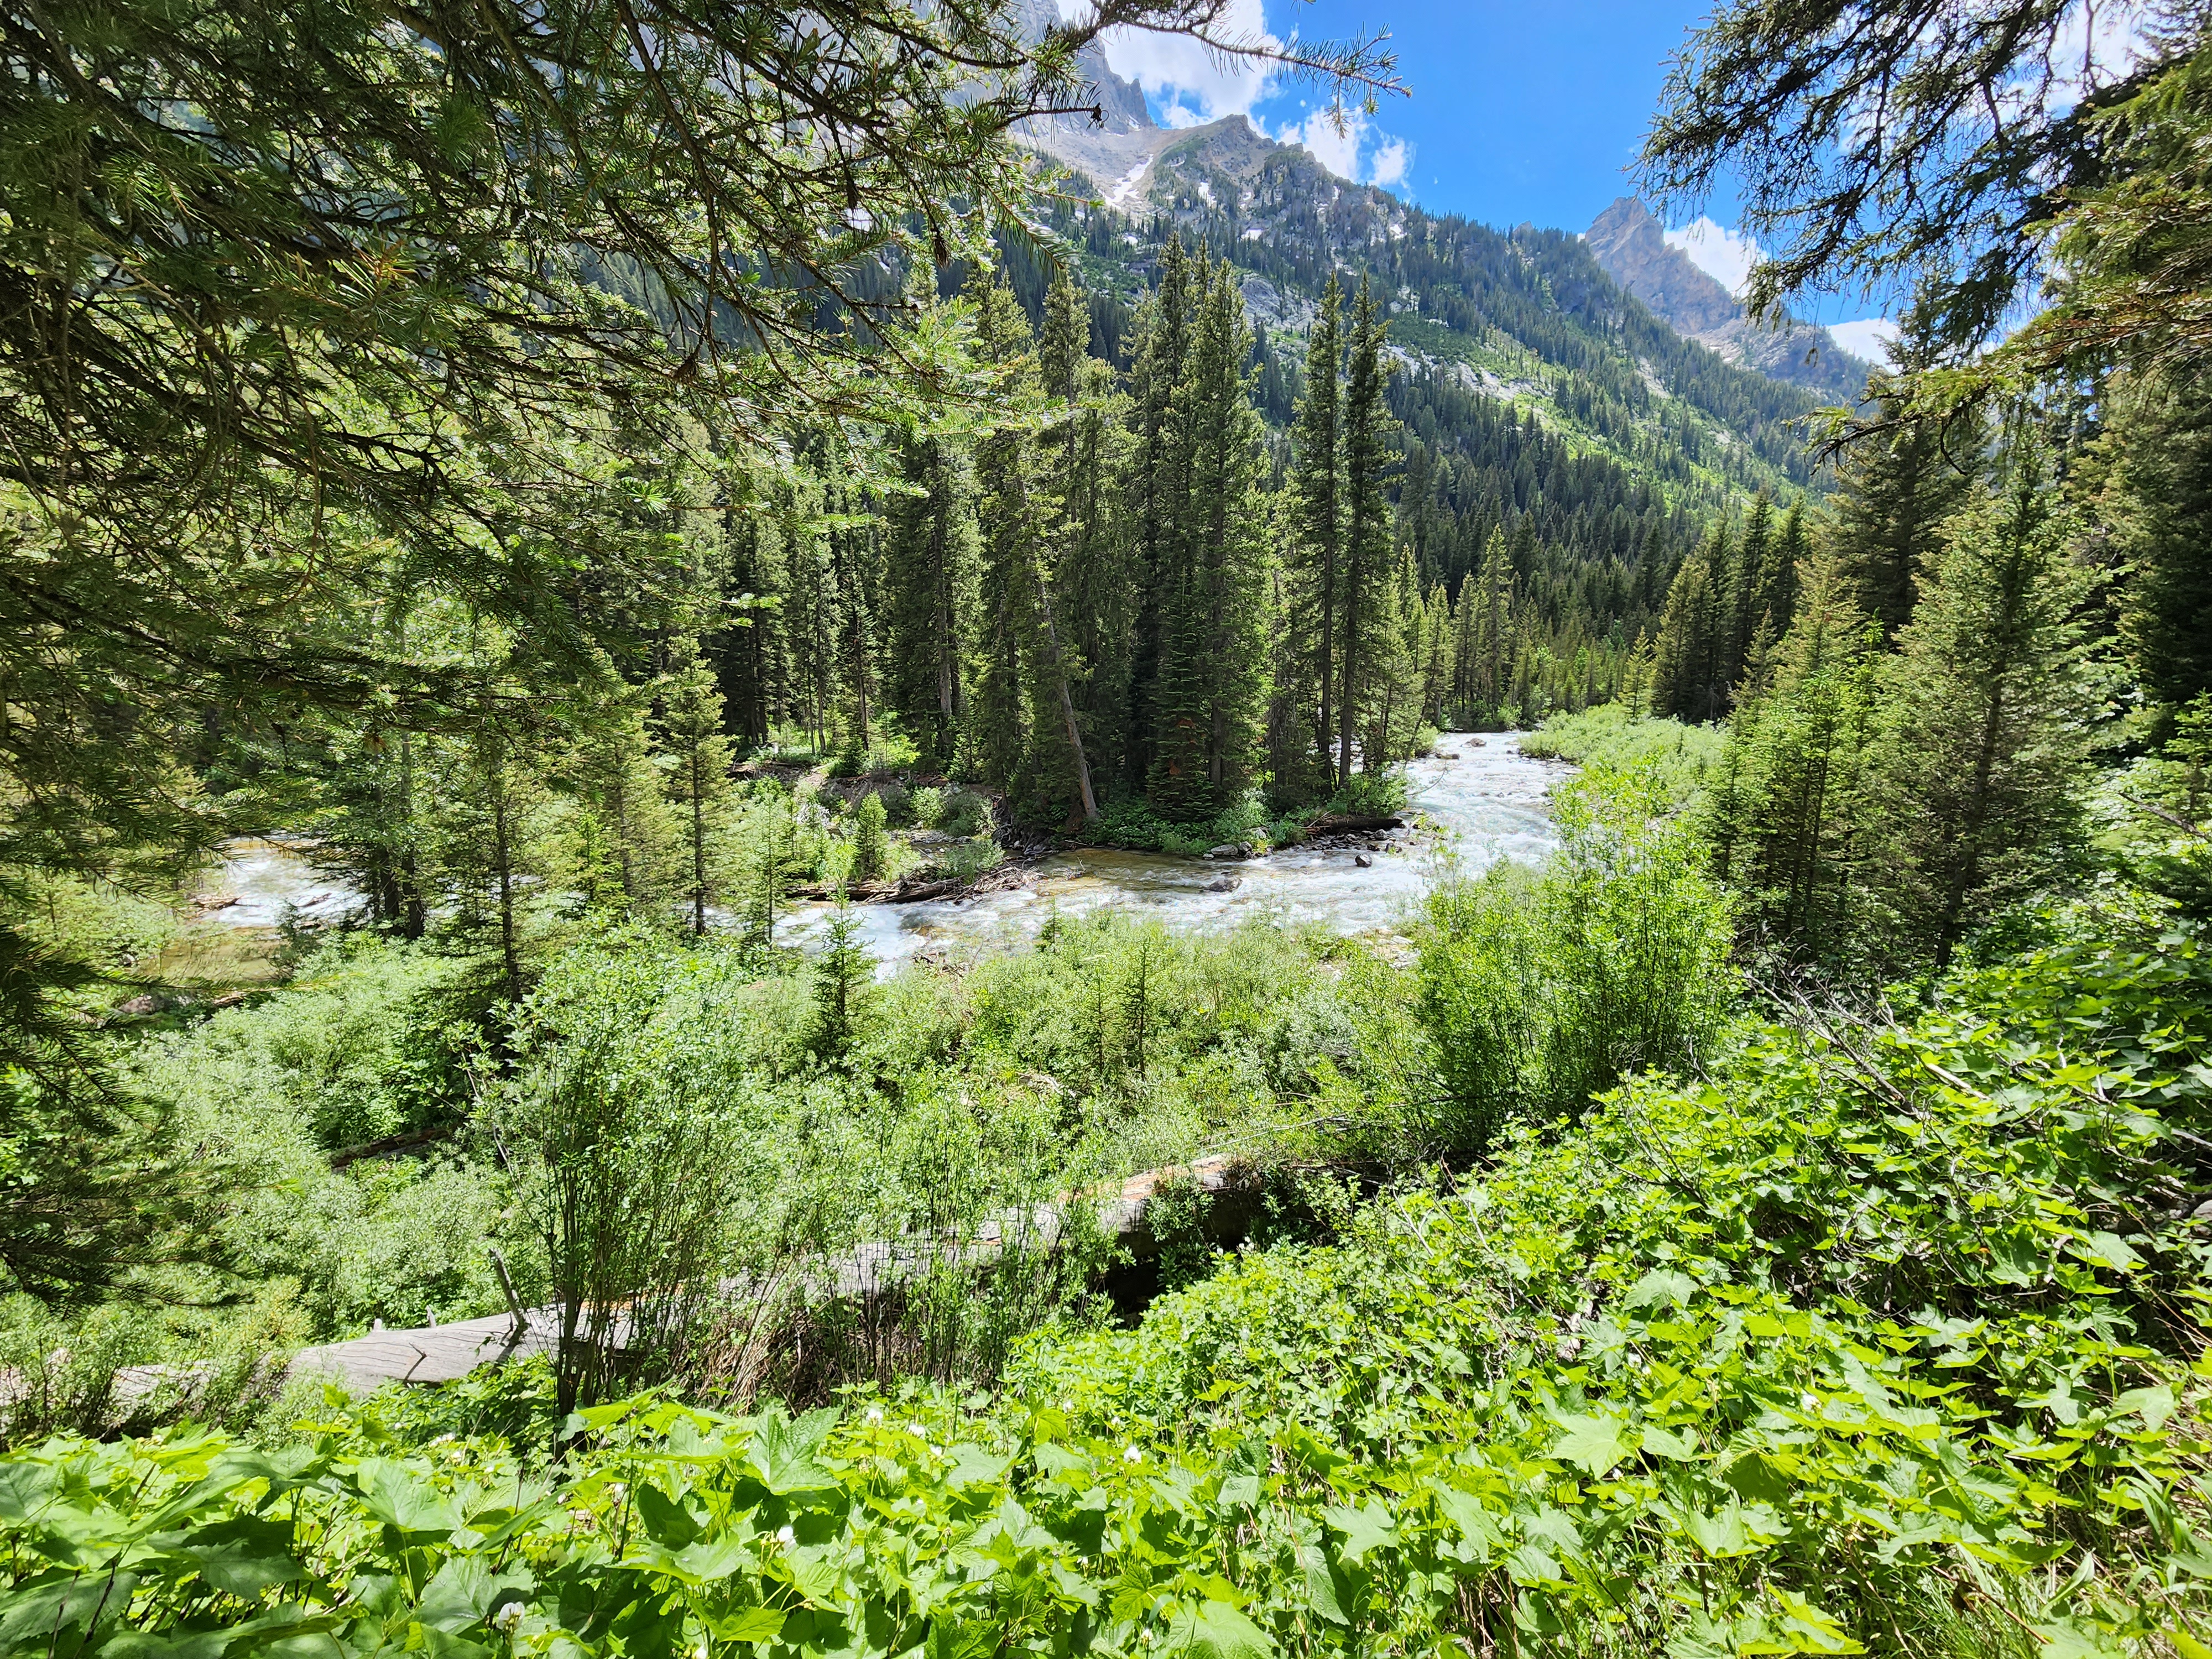
[[[2000,484],[1944,526],[1882,675],[1893,905],[1938,969],[1971,927],[2033,891],[2079,830],[2081,593],[2046,467],[2020,440]]]

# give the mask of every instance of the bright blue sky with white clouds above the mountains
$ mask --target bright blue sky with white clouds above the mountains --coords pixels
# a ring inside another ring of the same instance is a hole
[[[1387,29],[1407,97],[1338,133],[1314,86],[1241,73],[1181,40],[1110,40],[1108,62],[1139,80],[1152,115],[1197,124],[1250,115],[1270,137],[1307,144],[1332,170],[1436,212],[1491,226],[1584,230],[1628,195],[1668,58],[1710,0],[1232,0],[1243,33],[1345,40]],[[1734,201],[1679,226],[1686,252],[1734,288],[1750,248]],[[1677,215],[1681,219],[1683,215]],[[1829,303],[1820,321],[1849,321]],[[1871,349],[1867,336],[1847,338]]]

